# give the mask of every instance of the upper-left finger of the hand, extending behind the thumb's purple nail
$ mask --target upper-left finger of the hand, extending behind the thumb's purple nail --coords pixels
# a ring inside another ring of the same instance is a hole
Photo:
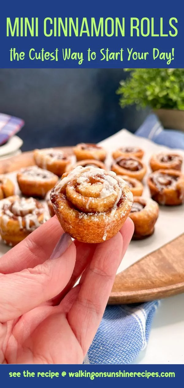
[[[56,216],[52,217],[0,258],[0,273],[11,274],[44,263],[63,233]]]

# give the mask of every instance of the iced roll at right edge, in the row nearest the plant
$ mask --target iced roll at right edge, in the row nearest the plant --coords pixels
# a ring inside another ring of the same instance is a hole
[[[152,171],[157,170],[179,170],[181,171],[182,157],[178,154],[158,154],[153,155],[150,159]]]

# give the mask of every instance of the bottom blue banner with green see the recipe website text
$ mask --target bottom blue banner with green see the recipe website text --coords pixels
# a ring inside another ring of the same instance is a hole
[[[182,365],[1,365],[1,384],[26,386],[177,386]]]

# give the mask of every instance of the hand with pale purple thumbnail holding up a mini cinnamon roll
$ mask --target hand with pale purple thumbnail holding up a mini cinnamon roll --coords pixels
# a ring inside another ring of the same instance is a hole
[[[1,364],[82,364],[133,229],[85,244],[53,217],[0,258]]]

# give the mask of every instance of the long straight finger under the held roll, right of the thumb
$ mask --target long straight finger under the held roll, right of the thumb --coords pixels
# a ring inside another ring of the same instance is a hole
[[[97,245],[68,322],[84,355],[95,336],[121,262],[123,238],[118,232],[112,239]]]

